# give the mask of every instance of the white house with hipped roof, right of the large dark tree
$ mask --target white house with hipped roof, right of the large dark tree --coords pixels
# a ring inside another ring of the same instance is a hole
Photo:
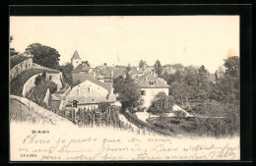
[[[159,92],[169,93],[169,85],[155,73],[145,74],[138,79],[141,98],[144,99],[144,105],[149,108],[155,95]]]

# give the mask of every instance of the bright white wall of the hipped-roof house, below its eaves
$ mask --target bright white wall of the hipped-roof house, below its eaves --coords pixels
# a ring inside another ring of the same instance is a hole
[[[163,91],[166,95],[168,95],[169,91],[168,88],[140,88],[140,90],[146,91],[146,95],[141,95],[141,97],[144,99],[144,106],[147,108],[151,106],[151,102],[156,94]]]

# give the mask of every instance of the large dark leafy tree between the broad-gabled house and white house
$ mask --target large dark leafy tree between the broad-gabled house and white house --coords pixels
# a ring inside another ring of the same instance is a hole
[[[113,87],[114,93],[118,93],[117,100],[122,103],[122,108],[141,105],[139,88],[133,79],[114,79]]]

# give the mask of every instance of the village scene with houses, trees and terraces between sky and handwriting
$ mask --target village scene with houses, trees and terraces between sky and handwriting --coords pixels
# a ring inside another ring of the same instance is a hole
[[[184,66],[157,57],[154,66],[142,59],[136,66],[96,67],[76,49],[69,63],[60,65],[60,57],[58,50],[40,43],[23,53],[10,48],[11,123],[41,123],[43,116],[34,110],[43,109],[81,128],[171,137],[239,136],[240,67],[232,49],[215,73],[204,62]],[[50,121],[46,123],[54,117]]]

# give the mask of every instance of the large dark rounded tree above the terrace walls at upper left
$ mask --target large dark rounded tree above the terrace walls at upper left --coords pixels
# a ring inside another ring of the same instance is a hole
[[[39,43],[33,43],[26,48],[32,54],[32,61],[41,66],[56,69],[59,66],[60,54],[54,48]]]

